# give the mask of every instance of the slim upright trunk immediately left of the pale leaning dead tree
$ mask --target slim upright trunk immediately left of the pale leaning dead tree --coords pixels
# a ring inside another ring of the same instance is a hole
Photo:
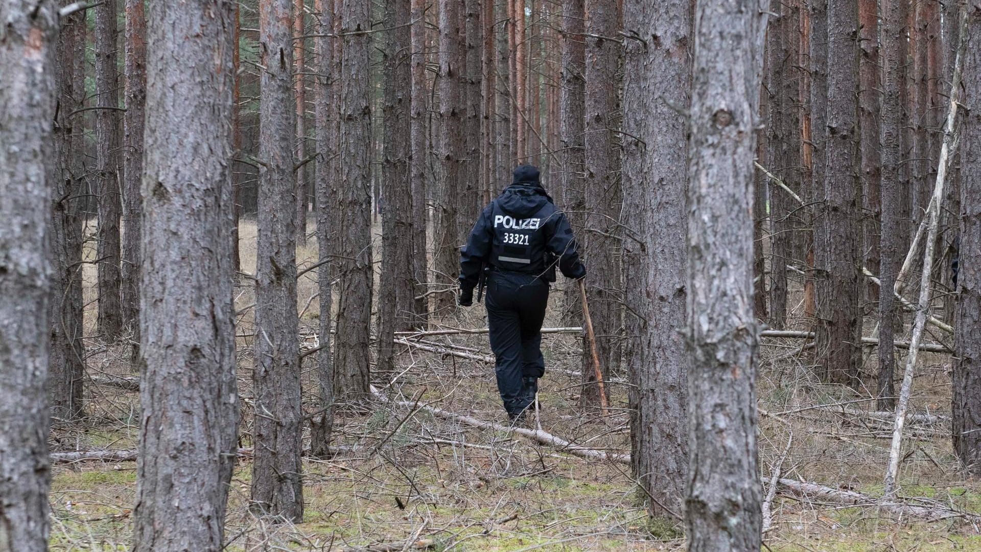
[[[879,369],[877,392],[879,410],[892,410],[896,390],[893,372],[896,367],[893,342],[898,317],[893,288],[902,259],[900,219],[904,186],[901,180],[904,159],[903,87],[906,59],[906,3],[883,0],[882,3],[882,226],[879,234]],[[902,325],[900,326],[902,329]]]

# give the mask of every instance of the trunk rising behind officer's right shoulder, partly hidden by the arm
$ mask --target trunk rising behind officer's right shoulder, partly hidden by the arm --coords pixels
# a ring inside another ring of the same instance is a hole
[[[562,207],[577,236],[584,236],[586,220],[586,4],[584,0],[562,3]],[[578,324],[582,319],[579,294],[565,294],[562,321]]]

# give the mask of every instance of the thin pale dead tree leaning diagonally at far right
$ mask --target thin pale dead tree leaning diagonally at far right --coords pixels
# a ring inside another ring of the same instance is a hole
[[[916,306],[916,315],[913,318],[912,333],[909,338],[909,355],[906,356],[906,365],[903,374],[903,386],[900,389],[899,402],[896,405],[896,424],[893,429],[893,443],[889,451],[889,467],[886,469],[885,488],[883,495],[888,499],[896,492],[896,475],[900,468],[901,446],[903,444],[903,426],[905,422],[906,410],[909,405],[909,396],[912,393],[913,369],[916,367],[916,357],[919,352],[918,345],[923,337],[923,328],[930,315],[930,291],[932,289],[932,268],[934,261],[934,248],[937,243],[937,227],[940,220],[940,209],[944,201],[944,186],[947,182],[947,174],[950,169],[949,159],[953,156],[959,137],[956,135],[957,98],[960,95],[960,79],[963,71],[964,56],[967,45],[967,2],[960,0],[960,9],[957,14],[960,44],[957,48],[957,56],[954,68],[954,80],[951,83],[950,107],[947,113],[947,123],[944,125],[944,142],[940,149],[940,160],[937,167],[937,180],[933,189],[933,196],[927,207],[926,222],[926,245],[923,252],[923,272],[920,278],[919,304]],[[913,246],[915,248],[915,245]]]

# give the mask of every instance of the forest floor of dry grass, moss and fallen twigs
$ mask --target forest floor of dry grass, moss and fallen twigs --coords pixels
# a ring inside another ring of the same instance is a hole
[[[243,267],[254,263],[254,225],[244,223]],[[378,245],[380,241],[376,241]],[[316,261],[316,243],[298,248],[297,261]],[[94,269],[85,274],[89,318],[94,316]],[[298,308],[309,334],[316,327],[316,273],[301,278]],[[552,305],[561,304],[561,283]],[[239,288],[239,308],[252,303]],[[800,297],[797,298],[800,301]],[[486,326],[483,308],[442,316],[448,326]],[[550,312],[546,326],[561,325]],[[792,329],[804,329],[801,327]],[[246,313],[239,334],[250,332]],[[315,332],[313,332],[315,333]],[[867,330],[866,335],[870,333]],[[489,355],[484,335],[432,341]],[[800,342],[767,340],[758,374],[760,471],[776,465],[783,476],[881,493],[888,459],[888,424],[854,414],[871,409],[867,396],[814,380]],[[126,346],[86,343],[91,376],[133,376]],[[240,391],[250,397],[251,342],[239,339]],[[311,346],[309,340],[305,347]],[[581,341],[573,335],[543,340],[548,366],[540,393],[542,427],[577,445],[629,453],[627,386],[611,381],[610,414],[603,419],[578,407]],[[376,374],[389,397],[482,420],[501,421],[489,363],[402,349],[397,374]],[[461,350],[462,351],[462,350]],[[949,358],[921,356],[914,383],[914,412],[949,414]],[[872,356],[868,366],[875,363]],[[304,365],[304,408],[315,410],[315,368]],[[871,368],[866,368],[871,370]],[[623,377],[623,374],[617,374]],[[393,378],[393,383],[388,384]],[[870,379],[871,381],[871,379]],[[55,423],[52,451],[125,450],[136,447],[138,394],[109,385],[87,385],[87,417]],[[404,421],[403,421],[404,420]],[[243,412],[241,446],[250,446],[251,419]],[[909,426],[900,471],[903,497],[919,497],[954,511],[981,513],[981,482],[956,468],[949,428]],[[386,439],[386,436],[389,435]],[[302,524],[270,524],[247,508],[250,462],[234,472],[226,524],[228,550],[433,550],[572,551],[684,549],[682,527],[648,520],[627,466],[573,457],[559,449],[493,429],[475,429],[410,406],[378,403],[360,411],[341,408],[335,444],[351,452],[304,462],[306,510]],[[383,439],[386,439],[383,443]],[[788,443],[790,445],[788,446]],[[381,445],[381,446],[380,446]],[[786,455],[785,455],[786,451]],[[781,457],[786,457],[782,462]],[[51,492],[53,550],[125,550],[131,534],[135,463],[78,462],[54,467]],[[867,506],[842,506],[778,493],[764,549],[780,551],[981,550],[981,527],[970,517],[923,521]],[[390,545],[387,548],[385,545]]]

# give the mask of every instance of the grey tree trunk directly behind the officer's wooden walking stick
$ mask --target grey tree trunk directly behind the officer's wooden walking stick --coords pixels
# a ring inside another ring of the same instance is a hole
[[[620,189],[619,144],[615,136],[617,111],[617,71],[620,47],[607,40],[619,29],[617,3],[613,0],[587,0],[586,38],[586,232],[580,240],[586,246],[590,311],[596,333],[596,348],[603,375],[620,364],[618,336],[621,333],[619,308],[620,257],[617,249],[622,192]],[[593,361],[589,348],[583,348],[583,365]],[[583,369],[582,405],[599,404],[599,388],[592,369]]]

